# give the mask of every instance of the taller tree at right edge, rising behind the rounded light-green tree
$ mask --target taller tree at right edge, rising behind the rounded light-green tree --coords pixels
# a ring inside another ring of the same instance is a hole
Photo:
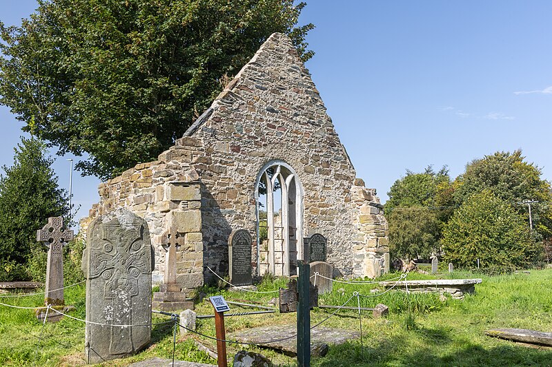
[[[537,165],[525,161],[521,150],[513,153],[497,151],[466,165],[464,174],[455,180],[453,196],[460,205],[475,193],[489,190],[524,216],[527,226],[529,211],[522,202],[534,200],[536,202],[531,205],[531,215],[535,232],[540,238],[551,238],[551,186],[550,182],[540,177],[541,174]]]

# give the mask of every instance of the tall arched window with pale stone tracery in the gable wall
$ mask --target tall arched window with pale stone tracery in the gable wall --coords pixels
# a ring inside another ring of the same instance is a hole
[[[303,259],[303,187],[286,162],[272,160],[255,181],[257,273],[296,275]]]

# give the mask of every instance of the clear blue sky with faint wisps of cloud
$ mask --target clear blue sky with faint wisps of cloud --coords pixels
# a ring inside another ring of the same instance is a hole
[[[306,66],[367,187],[384,202],[406,169],[467,162],[522,149],[552,180],[552,1],[307,0]],[[0,20],[19,24],[30,0],[0,0]],[[0,165],[11,165],[21,124],[0,107]],[[58,157],[59,184],[70,164]],[[73,176],[86,216],[96,178]]]

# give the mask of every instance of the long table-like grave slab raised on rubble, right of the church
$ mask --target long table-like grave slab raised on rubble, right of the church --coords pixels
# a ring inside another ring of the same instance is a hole
[[[406,280],[406,282],[380,282],[385,288],[395,288],[401,291],[420,293],[449,293],[458,300],[464,298],[465,293],[474,293],[475,284],[481,284],[482,279],[432,279],[432,280]]]

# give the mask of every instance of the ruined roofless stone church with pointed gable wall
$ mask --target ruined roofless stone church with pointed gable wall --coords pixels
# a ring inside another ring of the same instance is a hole
[[[366,189],[290,39],[275,33],[173,147],[99,185],[86,223],[126,207],[148,224],[154,281],[162,235],[184,236],[177,282],[190,289],[228,273],[228,237],[253,238],[253,276],[295,275],[304,238],[321,233],[335,276],[374,277],[388,252],[375,189]]]

